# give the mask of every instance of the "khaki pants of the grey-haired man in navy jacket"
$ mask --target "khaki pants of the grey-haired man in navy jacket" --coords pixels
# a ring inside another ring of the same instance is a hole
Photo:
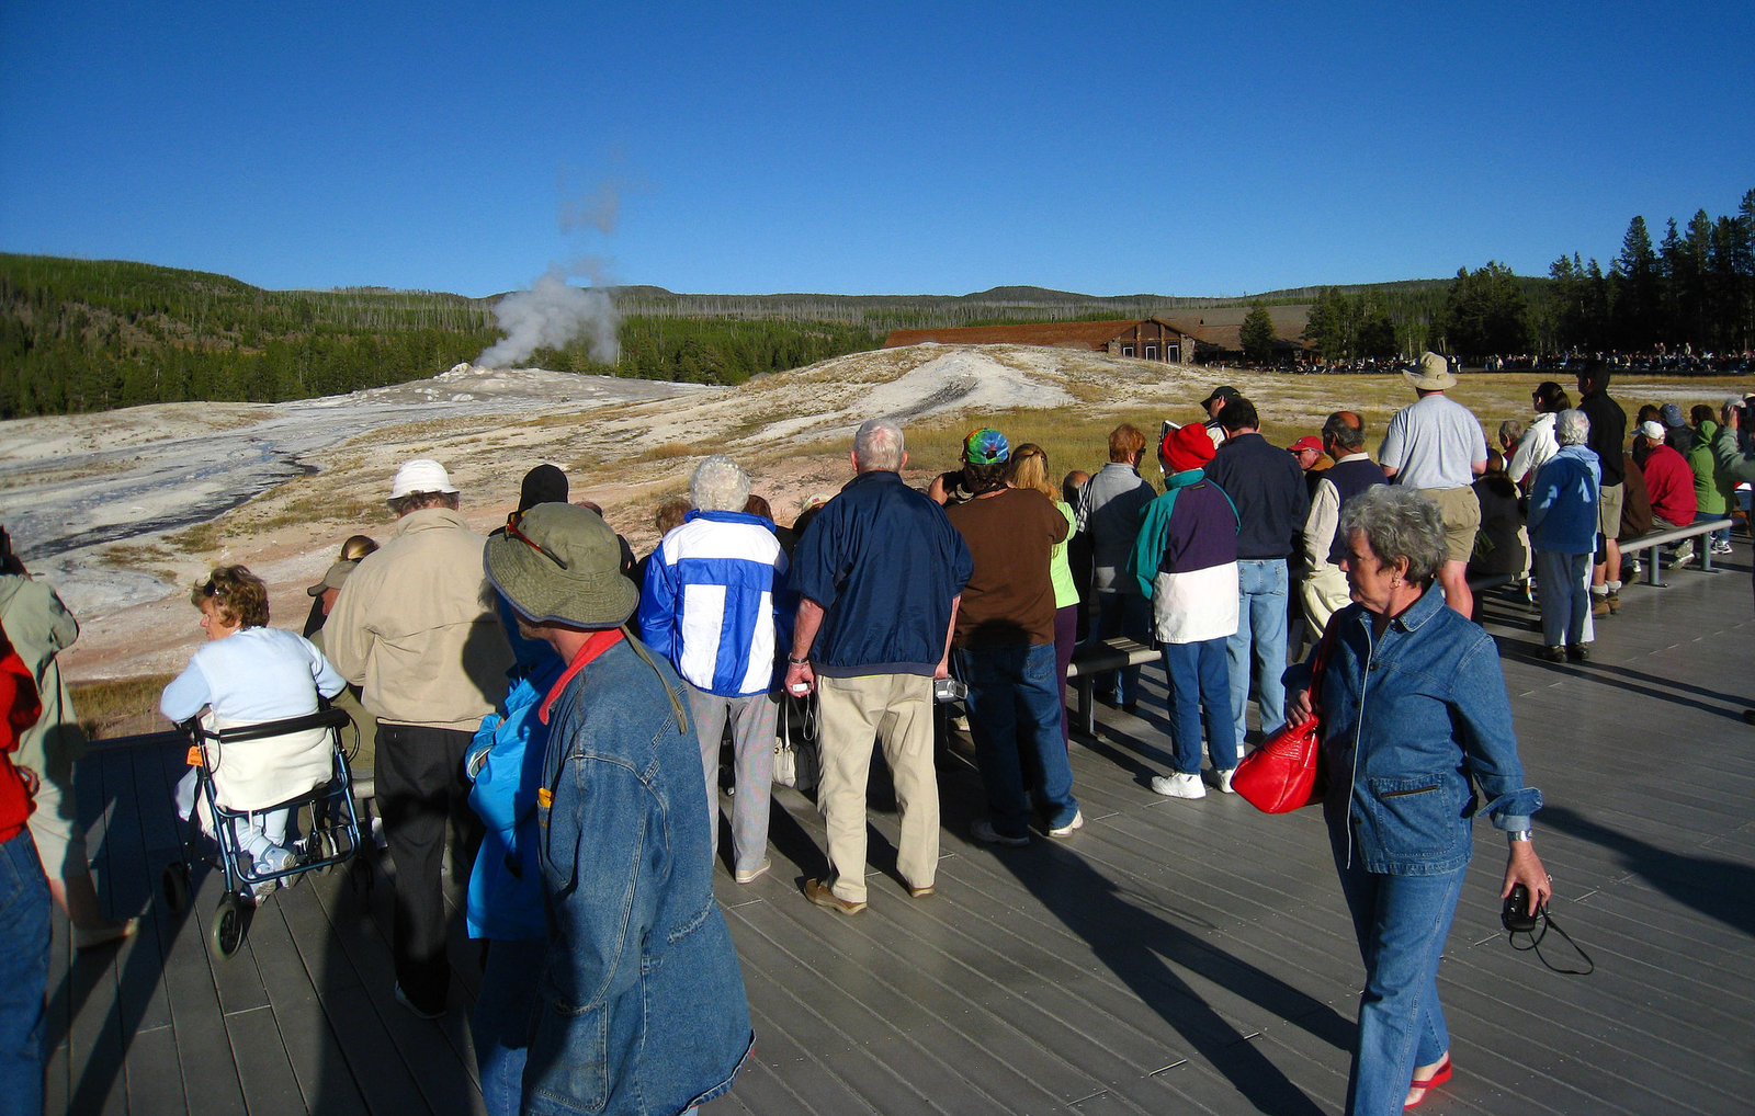
[[[907,886],[930,886],[939,870],[932,679],[918,674],[818,676],[816,693],[823,711],[816,809],[828,826],[834,893],[865,902],[865,781],[874,739],[883,746],[902,814],[895,867]]]

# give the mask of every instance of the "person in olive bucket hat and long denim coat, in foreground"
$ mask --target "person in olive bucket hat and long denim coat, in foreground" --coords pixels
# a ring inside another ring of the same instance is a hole
[[[755,1039],[713,898],[686,691],[621,628],[639,597],[598,516],[539,504],[488,540],[483,565],[519,633],[567,663],[539,707],[553,930],[525,1111],[681,1112],[725,1093]]]

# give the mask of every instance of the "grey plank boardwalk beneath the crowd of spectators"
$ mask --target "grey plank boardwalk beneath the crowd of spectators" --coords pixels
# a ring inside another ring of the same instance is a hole
[[[1530,612],[1495,598],[1557,916],[1594,976],[1557,976],[1499,928],[1502,841],[1450,937],[1455,1079],[1423,1112],[1748,1112],[1755,1095],[1755,621],[1744,546],[1718,574],[1630,586],[1588,663],[1532,658]],[[1143,709],[1162,709],[1148,669]],[[756,1051],[707,1112],[1339,1112],[1360,965],[1316,811],[1165,800],[1164,721],[1104,711],[1074,744],[1086,826],[993,851],[969,841],[972,769],[941,767],[939,893],[895,879],[893,805],[874,791],[872,905],[842,918],[799,883],[823,826],[779,790],[776,869],[721,874]],[[153,902],[176,855],[179,749],[81,769],[100,891],[146,912],[119,949],[70,960],[56,925],[49,1111],[476,1112],[465,1012],[476,948],[453,941],[453,1011],[391,998],[391,884],[305,881],[219,960],[216,881],[183,914]],[[878,786],[879,781],[874,781]],[[1550,949],[1551,946],[1551,949]],[[1550,935],[1544,953],[1576,958]]]

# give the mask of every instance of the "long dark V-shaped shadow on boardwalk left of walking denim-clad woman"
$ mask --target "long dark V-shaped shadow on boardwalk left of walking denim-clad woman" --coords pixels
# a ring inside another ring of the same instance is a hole
[[[1169,1023],[1193,1056],[1223,1074],[1257,1111],[1279,1116],[1323,1111],[1262,1053],[1253,1041],[1258,1032],[1239,1030],[1190,986],[1183,972],[1197,972],[1265,1014],[1329,1042],[1337,1049],[1337,1065],[1353,1044],[1351,1019],[1197,937],[1179,926],[1172,912],[1153,911],[1151,895],[1128,895],[1125,884],[1104,876],[1076,848],[1039,841],[1030,849],[1000,849],[997,860],[1067,930],[1088,942],[1097,960]],[[1174,1055],[1165,1051],[1167,1067],[1176,1065]]]

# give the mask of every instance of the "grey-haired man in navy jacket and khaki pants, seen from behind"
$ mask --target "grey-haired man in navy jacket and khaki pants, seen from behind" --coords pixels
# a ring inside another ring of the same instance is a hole
[[[939,779],[932,769],[932,679],[949,677],[951,626],[972,562],[944,509],[902,483],[902,428],[870,419],[853,439],[855,476],[793,551],[799,595],[786,690],[821,702],[827,879],[806,897],[830,911],[865,909],[865,776],[872,737],[895,779],[902,839],[897,870],[913,897],[932,895],[939,867]]]

